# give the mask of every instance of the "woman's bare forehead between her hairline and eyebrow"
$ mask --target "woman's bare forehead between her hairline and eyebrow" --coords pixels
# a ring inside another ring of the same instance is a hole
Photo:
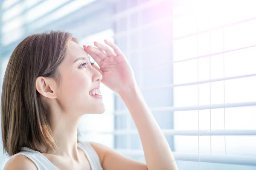
[[[84,51],[83,48],[79,46],[78,43],[71,41],[70,46],[67,50],[67,56],[64,60],[67,62],[73,63],[77,57],[85,57],[88,58],[88,54]]]

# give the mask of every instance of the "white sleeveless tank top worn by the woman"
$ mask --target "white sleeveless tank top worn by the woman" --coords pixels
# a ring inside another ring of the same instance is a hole
[[[91,170],[103,170],[98,154],[89,143],[87,142],[78,143],[77,146],[84,151],[84,154],[86,155],[91,165]],[[27,147],[23,147],[19,153],[16,153],[15,155],[11,156],[8,161],[10,161],[12,158],[14,158],[17,155],[24,155],[28,157],[31,161],[34,162],[38,170],[59,170],[42,153],[29,149]]]

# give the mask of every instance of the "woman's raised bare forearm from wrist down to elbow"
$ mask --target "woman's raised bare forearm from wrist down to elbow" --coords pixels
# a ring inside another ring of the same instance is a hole
[[[137,126],[148,170],[177,170],[169,144],[137,85],[120,93],[120,96]]]

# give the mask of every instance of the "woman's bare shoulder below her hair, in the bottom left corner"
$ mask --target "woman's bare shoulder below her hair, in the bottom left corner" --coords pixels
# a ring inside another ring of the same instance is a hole
[[[4,170],[37,170],[37,168],[28,157],[20,154],[10,159]]]

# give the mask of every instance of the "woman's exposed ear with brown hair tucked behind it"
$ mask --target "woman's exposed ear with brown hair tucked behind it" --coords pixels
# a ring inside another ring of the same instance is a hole
[[[37,77],[35,80],[35,88],[36,90],[43,96],[50,98],[50,99],[56,99],[56,89],[55,87],[55,81],[51,78],[46,77]]]

